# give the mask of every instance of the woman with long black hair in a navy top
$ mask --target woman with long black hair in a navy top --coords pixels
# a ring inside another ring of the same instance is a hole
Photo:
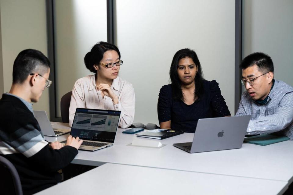
[[[170,67],[171,84],[159,93],[160,128],[194,133],[198,119],[230,116],[219,84],[203,78],[201,64],[191,49],[181,49]]]

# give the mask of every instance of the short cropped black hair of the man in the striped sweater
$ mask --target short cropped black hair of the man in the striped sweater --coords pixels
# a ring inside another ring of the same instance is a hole
[[[35,49],[21,51],[13,63],[12,83],[23,83],[30,73],[45,74],[50,68],[49,59]]]

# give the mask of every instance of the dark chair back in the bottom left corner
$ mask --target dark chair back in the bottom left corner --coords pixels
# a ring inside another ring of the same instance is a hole
[[[4,158],[3,156],[0,156],[0,173],[0,194],[23,194],[20,178],[18,172],[16,171],[16,168],[9,160]]]

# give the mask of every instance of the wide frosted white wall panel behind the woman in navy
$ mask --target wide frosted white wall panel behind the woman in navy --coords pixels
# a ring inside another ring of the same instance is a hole
[[[157,123],[160,88],[176,51],[191,48],[234,114],[235,1],[116,0],[122,79],[136,93],[135,122]]]

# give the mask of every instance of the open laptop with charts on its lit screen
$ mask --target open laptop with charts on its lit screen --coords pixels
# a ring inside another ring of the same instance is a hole
[[[70,135],[83,140],[79,150],[96,151],[112,146],[120,114],[115,110],[76,108]]]

